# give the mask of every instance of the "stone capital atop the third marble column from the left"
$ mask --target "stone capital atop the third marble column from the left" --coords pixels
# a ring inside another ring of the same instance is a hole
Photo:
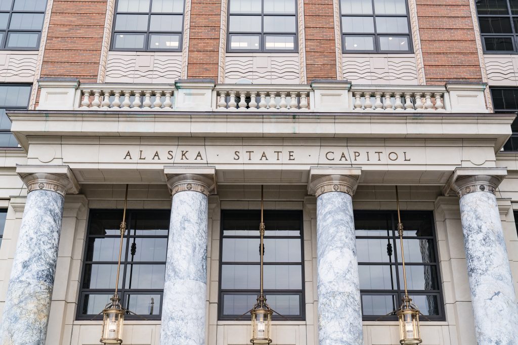
[[[308,193],[317,198],[327,192],[343,192],[352,197],[361,174],[361,168],[311,168]]]

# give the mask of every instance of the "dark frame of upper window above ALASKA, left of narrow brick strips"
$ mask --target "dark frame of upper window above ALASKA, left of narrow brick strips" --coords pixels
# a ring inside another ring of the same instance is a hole
[[[181,52],[183,48],[183,31],[185,26],[185,0],[183,0],[183,12],[153,12],[151,10],[153,6],[153,0],[149,0],[149,10],[148,12],[118,12],[119,7],[119,0],[116,0],[115,7],[113,11],[113,23],[112,23],[112,33],[111,33],[111,43],[110,43],[110,51],[118,51],[118,52]],[[117,23],[117,14],[144,14],[148,16],[148,27],[147,31],[137,31],[137,30],[130,30],[130,31],[116,31],[115,25]],[[171,16],[182,16],[182,28],[181,31],[151,31],[151,16],[157,15],[157,14],[165,14],[165,15],[171,15]],[[144,35],[144,48],[116,48],[115,47],[115,39],[117,35],[131,35],[131,34],[143,34]],[[171,49],[151,49],[150,48],[150,37],[151,35],[179,35],[178,39],[178,48],[171,48]]]

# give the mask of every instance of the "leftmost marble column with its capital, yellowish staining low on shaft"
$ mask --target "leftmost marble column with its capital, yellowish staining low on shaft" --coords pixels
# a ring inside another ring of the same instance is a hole
[[[28,194],[0,323],[2,345],[45,344],[64,195],[78,190],[68,167],[54,168],[17,168]]]

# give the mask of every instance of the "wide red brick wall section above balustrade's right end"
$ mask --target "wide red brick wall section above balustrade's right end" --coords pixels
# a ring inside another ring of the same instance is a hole
[[[417,0],[427,84],[482,81],[469,0]]]

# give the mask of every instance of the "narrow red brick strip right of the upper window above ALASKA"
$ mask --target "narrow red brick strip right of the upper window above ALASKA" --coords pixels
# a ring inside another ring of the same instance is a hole
[[[220,24],[221,0],[192,0],[188,78],[218,80]]]

